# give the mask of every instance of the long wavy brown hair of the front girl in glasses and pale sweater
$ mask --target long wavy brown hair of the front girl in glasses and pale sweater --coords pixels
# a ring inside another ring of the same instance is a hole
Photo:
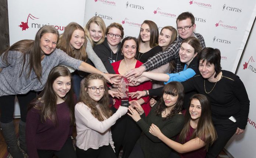
[[[89,86],[91,80],[102,80],[104,84],[105,91],[103,97],[98,102],[95,102],[92,98],[90,98],[87,93],[87,91],[90,91],[90,89],[87,87]],[[87,88],[86,91],[85,88]],[[91,109],[92,115],[99,121],[104,121],[104,117],[109,118],[112,114],[109,108],[109,94],[107,92],[107,82],[99,74],[90,74],[88,77],[86,77],[85,82],[80,90],[79,102],[83,102],[84,104],[86,104],[86,106]],[[103,116],[100,114],[99,109],[96,107],[97,104],[99,105],[100,111],[102,112]]]

